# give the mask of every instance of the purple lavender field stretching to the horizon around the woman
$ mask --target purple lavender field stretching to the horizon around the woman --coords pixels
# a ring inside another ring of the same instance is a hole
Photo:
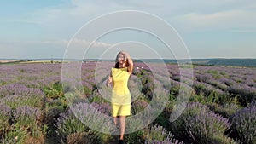
[[[87,99],[96,108],[96,115],[110,116],[109,101],[102,97],[99,86],[112,66],[112,62],[99,66],[96,62],[82,63],[84,91],[67,96],[65,93],[73,88],[61,81],[61,63],[0,65],[0,143],[116,143],[117,135],[90,129],[73,114],[86,114],[88,107],[83,101]],[[193,66],[192,76],[183,73],[185,79],[193,81],[189,102],[174,122],[169,118],[182,89],[181,75],[177,65],[166,67],[167,78],[160,68],[153,75],[145,63],[135,62],[129,81],[131,115],[149,105],[154,91],[160,91],[157,84],[168,91],[169,100],[152,124],[126,134],[126,143],[256,143],[255,67]],[[85,118],[92,118],[89,116]],[[132,128],[128,125],[126,129]]]

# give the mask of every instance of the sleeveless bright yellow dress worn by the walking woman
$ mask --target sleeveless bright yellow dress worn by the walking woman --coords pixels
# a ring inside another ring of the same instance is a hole
[[[113,117],[131,115],[131,93],[128,89],[128,80],[131,75],[127,67],[112,68],[113,91],[111,107]]]

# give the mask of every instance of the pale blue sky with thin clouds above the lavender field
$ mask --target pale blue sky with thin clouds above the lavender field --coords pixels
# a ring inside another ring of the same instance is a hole
[[[67,52],[73,58],[80,58],[77,53],[84,58],[113,58],[120,49],[137,58],[177,57],[153,35],[135,30],[109,32],[87,52],[68,48],[71,40],[76,47],[91,42],[85,31],[79,31],[83,26],[124,10],[152,14],[172,26],[190,58],[256,58],[256,1],[252,0],[5,0],[0,5],[0,59],[62,59]],[[131,19],[136,20],[136,15]],[[102,26],[114,22],[119,20]],[[161,29],[154,22],[148,25]],[[167,37],[167,32],[162,34]],[[75,50],[79,52],[72,53]]]

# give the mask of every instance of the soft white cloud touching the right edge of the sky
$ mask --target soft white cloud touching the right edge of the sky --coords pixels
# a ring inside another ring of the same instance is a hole
[[[176,18],[188,30],[256,29],[256,11],[234,9],[212,14],[189,13]]]

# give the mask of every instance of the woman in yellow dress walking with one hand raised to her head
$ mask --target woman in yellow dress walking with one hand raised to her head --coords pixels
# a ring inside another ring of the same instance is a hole
[[[116,56],[115,66],[111,69],[107,85],[112,83],[113,92],[111,97],[111,107],[113,123],[119,124],[119,143],[123,143],[125,135],[125,118],[131,115],[131,93],[128,89],[133,62],[130,55],[125,51],[120,51]]]

